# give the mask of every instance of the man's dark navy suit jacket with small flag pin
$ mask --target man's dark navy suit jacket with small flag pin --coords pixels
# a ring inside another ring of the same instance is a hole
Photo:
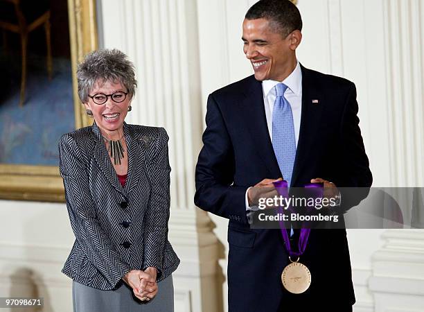
[[[304,67],[301,71],[301,128],[292,186],[303,187],[315,177],[337,187],[371,186],[355,85]],[[203,143],[195,172],[195,205],[229,218],[229,311],[273,312],[285,302],[303,304],[314,298],[328,298],[325,304],[353,304],[344,229],[312,229],[301,259],[311,271],[312,284],[306,293],[291,295],[281,285],[288,254],[279,229],[249,228],[247,188],[265,177],[281,177],[267,130],[262,85],[254,76],[209,96]],[[342,201],[346,198],[342,193]]]

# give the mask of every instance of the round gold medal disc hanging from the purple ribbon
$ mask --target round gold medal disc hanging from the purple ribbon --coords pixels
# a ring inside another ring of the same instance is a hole
[[[281,281],[290,293],[303,293],[310,286],[310,271],[302,263],[292,262],[281,273]]]

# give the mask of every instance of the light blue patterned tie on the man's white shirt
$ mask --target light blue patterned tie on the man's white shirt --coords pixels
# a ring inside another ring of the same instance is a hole
[[[276,98],[272,110],[272,147],[283,180],[286,180],[290,187],[294,157],[296,157],[296,137],[294,137],[292,107],[284,97],[287,88],[288,86],[283,83],[275,86]]]

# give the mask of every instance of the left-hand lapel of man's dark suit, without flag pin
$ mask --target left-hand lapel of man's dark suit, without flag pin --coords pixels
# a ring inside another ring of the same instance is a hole
[[[253,76],[251,76],[250,81],[251,84],[247,87],[249,91],[247,91],[245,98],[242,100],[243,110],[240,111],[246,114],[244,120],[249,128],[254,146],[269,171],[267,177],[280,177],[279,164],[276,160],[267,128],[262,83]]]

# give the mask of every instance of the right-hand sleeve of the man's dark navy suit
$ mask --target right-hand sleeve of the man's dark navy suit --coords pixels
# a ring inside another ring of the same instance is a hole
[[[340,123],[340,137],[342,142],[342,158],[340,173],[335,184],[342,187],[342,210],[358,205],[369,193],[373,176],[369,169],[369,160],[366,157],[364,141],[359,127],[357,116],[356,87],[352,83],[346,96],[346,104]]]

